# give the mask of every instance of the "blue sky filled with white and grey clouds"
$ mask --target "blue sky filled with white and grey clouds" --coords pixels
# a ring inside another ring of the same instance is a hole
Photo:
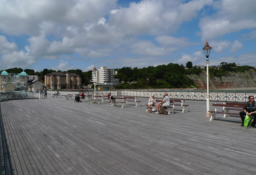
[[[0,70],[256,66],[255,0],[0,0]]]

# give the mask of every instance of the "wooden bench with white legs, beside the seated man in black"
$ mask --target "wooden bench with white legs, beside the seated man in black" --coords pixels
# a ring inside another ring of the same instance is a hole
[[[245,104],[217,104],[214,103],[212,104],[213,106],[215,106],[215,110],[214,111],[208,111],[211,114],[211,119],[210,120],[215,120],[216,119],[216,114],[224,114],[223,117],[228,117],[230,115],[240,115],[239,112],[237,113],[233,113],[233,112],[229,112],[230,110],[235,110],[235,111],[243,111],[243,107]],[[223,107],[223,111],[218,111],[217,107]]]

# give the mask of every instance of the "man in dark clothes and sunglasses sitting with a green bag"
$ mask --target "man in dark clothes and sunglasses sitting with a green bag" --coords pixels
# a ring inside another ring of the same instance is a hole
[[[254,101],[254,97],[252,95],[250,95],[248,97],[249,101],[247,101],[245,103],[245,106],[243,108],[243,111],[239,112],[240,114],[240,117],[241,117],[241,120],[242,120],[242,124],[241,124],[241,127],[244,126],[244,122],[245,122],[245,115],[248,115],[248,116],[254,116],[256,114],[256,103]],[[255,115],[256,116],[256,115]],[[252,127],[256,128],[255,126],[256,124],[256,119],[254,118],[253,119],[253,122],[252,122]]]

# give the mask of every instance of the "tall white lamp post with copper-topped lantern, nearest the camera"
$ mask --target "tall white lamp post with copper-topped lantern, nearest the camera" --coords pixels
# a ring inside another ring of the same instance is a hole
[[[208,42],[206,41],[206,44],[205,46],[203,47],[203,52],[206,56],[206,77],[207,77],[207,96],[206,96],[206,108],[207,108],[207,111],[206,111],[206,116],[207,117],[210,117],[210,95],[209,95],[209,67],[208,67],[208,64],[209,64],[209,55],[210,55],[210,52],[211,52],[211,47],[208,45]]]

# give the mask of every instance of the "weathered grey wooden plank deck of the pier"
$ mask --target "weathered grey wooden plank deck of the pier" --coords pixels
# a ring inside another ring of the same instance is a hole
[[[2,151],[0,174],[256,173],[256,129],[241,127],[239,116],[209,121],[205,101],[185,104],[188,113],[178,106],[173,115],[158,115],[133,103],[120,108],[64,97],[1,102],[11,169],[4,171]]]

